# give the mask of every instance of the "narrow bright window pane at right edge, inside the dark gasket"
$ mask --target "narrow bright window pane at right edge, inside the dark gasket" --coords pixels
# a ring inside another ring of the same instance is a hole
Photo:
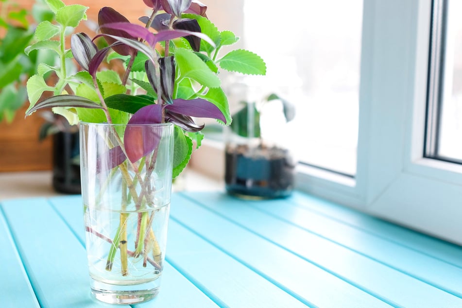
[[[437,157],[462,161],[462,19],[458,16],[462,1],[449,0],[445,9],[443,93]]]

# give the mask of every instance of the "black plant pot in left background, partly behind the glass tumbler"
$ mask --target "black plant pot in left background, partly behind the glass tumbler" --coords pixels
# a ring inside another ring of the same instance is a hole
[[[53,135],[53,188],[67,194],[81,193],[78,131]]]

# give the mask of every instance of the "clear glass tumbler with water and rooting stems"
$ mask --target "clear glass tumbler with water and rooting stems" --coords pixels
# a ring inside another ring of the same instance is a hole
[[[173,125],[81,123],[80,139],[91,291],[111,304],[150,300],[165,257]]]

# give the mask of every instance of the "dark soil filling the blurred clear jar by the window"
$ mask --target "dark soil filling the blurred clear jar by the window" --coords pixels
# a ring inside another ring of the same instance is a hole
[[[286,149],[247,144],[225,151],[226,190],[242,197],[281,198],[291,194],[295,162]]]

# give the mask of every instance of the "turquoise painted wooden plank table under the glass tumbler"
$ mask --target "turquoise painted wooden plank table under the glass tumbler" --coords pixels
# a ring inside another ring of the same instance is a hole
[[[0,209],[1,308],[112,306],[91,298],[80,196]],[[173,194],[166,260],[133,307],[462,307],[460,246],[300,192]]]

